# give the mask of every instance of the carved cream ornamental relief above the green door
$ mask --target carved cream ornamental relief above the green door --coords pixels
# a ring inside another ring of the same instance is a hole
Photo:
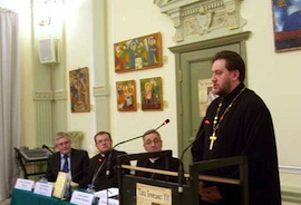
[[[240,16],[242,0],[155,0],[176,29],[175,42],[195,42],[242,31],[246,21]]]

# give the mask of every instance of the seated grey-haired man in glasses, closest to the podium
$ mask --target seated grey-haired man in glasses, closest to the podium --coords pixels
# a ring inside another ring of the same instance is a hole
[[[147,153],[161,152],[162,144],[163,141],[161,139],[161,135],[155,129],[151,129],[143,135],[143,146]],[[137,166],[178,172],[179,159],[172,157],[168,160],[169,160],[169,167],[166,166],[166,159],[164,157],[140,159],[137,162]],[[168,176],[154,174],[154,173],[146,173],[146,172],[136,172],[136,176],[143,176],[143,177],[161,179],[161,180],[168,179]],[[178,179],[177,177],[169,177],[169,180],[177,183]]]

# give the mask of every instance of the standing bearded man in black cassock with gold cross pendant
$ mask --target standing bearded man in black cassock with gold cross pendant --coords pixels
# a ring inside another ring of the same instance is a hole
[[[192,147],[194,162],[247,156],[249,205],[280,205],[274,128],[263,100],[243,84],[245,65],[233,51],[212,60],[212,91],[220,97],[207,108]],[[237,178],[236,167],[203,174]],[[240,203],[239,187],[200,182],[201,204]]]

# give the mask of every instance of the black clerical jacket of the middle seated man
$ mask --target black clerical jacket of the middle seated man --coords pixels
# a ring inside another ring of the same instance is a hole
[[[93,178],[95,177],[94,182],[94,189],[100,191],[109,187],[118,187],[118,172],[117,172],[117,156],[125,155],[125,152],[119,150],[111,150],[111,158],[108,167],[108,157],[109,153],[107,154],[98,154],[90,159],[89,163],[89,170],[87,173],[85,186],[93,183]],[[129,163],[126,163],[129,165]],[[106,175],[106,170],[109,168],[109,176]],[[99,170],[98,170],[99,169]],[[125,173],[129,173],[125,170]]]

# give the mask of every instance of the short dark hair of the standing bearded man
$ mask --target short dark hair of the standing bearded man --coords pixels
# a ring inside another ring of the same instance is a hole
[[[212,64],[219,59],[224,59],[226,61],[225,67],[227,70],[230,70],[230,71],[239,70],[240,71],[239,80],[242,82],[244,81],[244,79],[245,79],[245,64],[239,53],[231,51],[231,50],[223,50],[221,52],[217,52],[212,58]]]

